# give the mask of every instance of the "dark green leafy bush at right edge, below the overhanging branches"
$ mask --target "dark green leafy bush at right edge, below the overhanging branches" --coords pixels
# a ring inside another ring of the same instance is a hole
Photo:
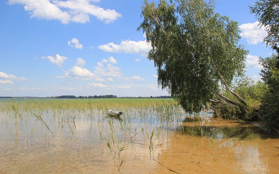
[[[268,87],[260,107],[262,119],[267,127],[279,129],[279,56],[261,58],[260,62],[263,65],[261,75]]]

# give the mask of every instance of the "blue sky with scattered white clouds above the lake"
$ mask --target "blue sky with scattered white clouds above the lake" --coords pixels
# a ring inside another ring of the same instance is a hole
[[[249,6],[256,0],[216,0],[215,12],[238,21],[249,51],[246,75],[260,80],[263,43]],[[155,2],[158,2],[156,0]],[[1,0],[0,96],[150,97],[157,84],[151,48],[137,31],[143,0]]]

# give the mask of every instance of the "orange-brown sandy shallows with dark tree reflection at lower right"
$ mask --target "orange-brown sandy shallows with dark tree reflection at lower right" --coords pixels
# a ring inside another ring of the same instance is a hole
[[[156,173],[278,173],[278,137],[249,124],[183,122],[169,140]]]

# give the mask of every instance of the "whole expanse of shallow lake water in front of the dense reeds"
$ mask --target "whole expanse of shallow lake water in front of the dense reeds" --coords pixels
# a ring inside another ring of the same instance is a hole
[[[237,121],[185,119],[182,110],[166,115],[0,113],[0,173],[278,173],[278,137]]]

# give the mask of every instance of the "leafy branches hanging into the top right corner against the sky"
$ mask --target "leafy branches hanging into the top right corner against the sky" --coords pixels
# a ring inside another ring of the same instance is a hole
[[[250,6],[251,13],[254,13],[261,26],[265,26],[268,36],[264,39],[279,53],[279,1],[259,0]]]

